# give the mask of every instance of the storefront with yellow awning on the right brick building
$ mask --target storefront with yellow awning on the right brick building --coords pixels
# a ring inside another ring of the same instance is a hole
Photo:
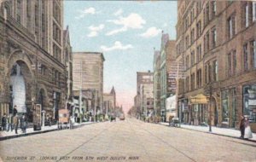
[[[195,95],[189,98],[190,111],[190,123],[194,125],[207,125],[208,110],[207,110],[207,96]]]

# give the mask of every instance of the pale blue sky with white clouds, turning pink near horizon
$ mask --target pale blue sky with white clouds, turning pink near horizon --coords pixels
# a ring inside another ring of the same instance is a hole
[[[65,1],[73,51],[102,52],[104,92],[112,86],[128,110],[136,95],[137,72],[153,70],[161,31],[176,38],[176,1]]]

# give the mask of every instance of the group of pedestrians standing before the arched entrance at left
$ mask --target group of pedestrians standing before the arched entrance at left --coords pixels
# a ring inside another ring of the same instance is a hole
[[[2,122],[2,130],[4,131],[13,131],[15,130],[15,134],[18,134],[18,127],[20,124],[21,131],[26,133],[27,119],[25,113],[22,114],[21,118],[18,117],[16,106],[14,107],[14,115],[6,113],[3,114],[1,119]]]

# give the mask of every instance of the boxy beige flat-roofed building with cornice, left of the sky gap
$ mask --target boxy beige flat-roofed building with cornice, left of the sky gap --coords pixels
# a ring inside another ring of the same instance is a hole
[[[102,53],[73,53],[73,95],[79,100],[75,113],[102,113],[104,61]]]

